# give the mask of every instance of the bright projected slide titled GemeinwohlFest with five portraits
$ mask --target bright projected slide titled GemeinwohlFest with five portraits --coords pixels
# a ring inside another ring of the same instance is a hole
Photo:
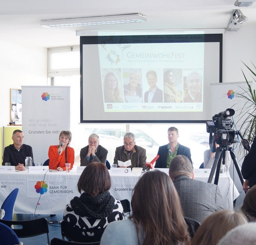
[[[204,43],[98,48],[105,112],[203,111]]]

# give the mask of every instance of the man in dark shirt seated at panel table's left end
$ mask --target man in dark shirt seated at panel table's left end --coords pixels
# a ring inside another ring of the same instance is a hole
[[[11,163],[11,166],[15,166],[15,170],[25,170],[26,157],[32,157],[33,165],[33,151],[30,145],[23,144],[24,134],[21,130],[14,130],[12,133],[13,144],[6,146],[3,152],[3,164]]]

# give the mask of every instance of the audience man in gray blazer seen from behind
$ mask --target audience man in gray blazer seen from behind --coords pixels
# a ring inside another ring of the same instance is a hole
[[[210,214],[226,208],[219,186],[195,180],[193,167],[186,156],[172,159],[169,176],[179,194],[185,217],[202,223]]]

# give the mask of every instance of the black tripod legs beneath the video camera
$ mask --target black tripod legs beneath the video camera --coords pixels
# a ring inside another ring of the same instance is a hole
[[[235,165],[237,174],[238,174],[239,179],[240,179],[240,181],[242,183],[242,186],[243,186],[244,178],[243,178],[241,170],[239,168],[239,165],[238,165],[238,162],[237,162],[237,159],[236,159],[236,155],[234,153],[234,149],[232,147],[229,147],[227,149],[227,146],[220,146],[220,147],[216,148],[216,153],[215,153],[212,169],[211,169],[211,172],[210,172],[210,175],[209,175],[209,178],[208,178],[208,183],[212,182],[213,175],[214,175],[214,172],[215,172],[215,169],[216,169],[214,184],[218,185],[219,177],[220,177],[220,170],[221,170],[221,159],[222,159],[223,163],[225,163],[226,151],[230,152],[230,155],[231,155],[231,158],[232,158],[233,163]]]

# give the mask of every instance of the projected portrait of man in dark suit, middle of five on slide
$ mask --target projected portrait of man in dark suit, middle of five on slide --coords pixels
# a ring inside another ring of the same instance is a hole
[[[149,85],[149,90],[144,94],[144,102],[163,102],[163,90],[157,88],[157,75],[154,70],[149,70],[147,72],[147,83]]]

